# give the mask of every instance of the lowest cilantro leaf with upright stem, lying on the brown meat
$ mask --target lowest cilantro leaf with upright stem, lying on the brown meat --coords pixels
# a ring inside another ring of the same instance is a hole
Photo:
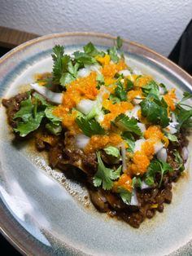
[[[120,177],[121,166],[117,170],[113,170],[104,166],[103,161],[100,156],[100,152],[96,152],[98,157],[98,170],[94,175],[94,187],[99,187],[102,185],[102,188],[109,190],[113,186],[113,180],[116,180]]]

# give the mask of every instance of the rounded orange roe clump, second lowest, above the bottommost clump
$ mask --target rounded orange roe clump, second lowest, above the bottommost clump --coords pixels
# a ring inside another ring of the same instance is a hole
[[[136,151],[133,155],[133,164],[130,166],[132,174],[145,174],[150,165],[150,159],[142,151]]]

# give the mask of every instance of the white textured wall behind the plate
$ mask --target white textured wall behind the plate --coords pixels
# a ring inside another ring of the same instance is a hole
[[[47,34],[120,35],[168,55],[192,18],[192,0],[0,0],[0,25]]]

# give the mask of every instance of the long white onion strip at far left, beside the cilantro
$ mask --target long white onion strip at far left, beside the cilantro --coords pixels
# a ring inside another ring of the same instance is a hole
[[[46,99],[49,99],[51,102],[55,104],[62,104],[62,93],[48,90],[46,86],[40,86],[38,83],[32,83],[31,86],[34,90],[46,97]]]

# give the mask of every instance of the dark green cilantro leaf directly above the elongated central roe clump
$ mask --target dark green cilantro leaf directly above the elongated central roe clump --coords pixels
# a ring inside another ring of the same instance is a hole
[[[103,127],[94,119],[88,120],[84,116],[79,116],[76,117],[76,124],[88,137],[91,137],[92,135],[105,135]]]

